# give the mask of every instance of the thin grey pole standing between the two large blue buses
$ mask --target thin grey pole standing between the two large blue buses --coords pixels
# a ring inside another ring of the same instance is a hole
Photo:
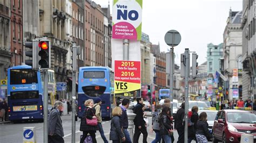
[[[77,72],[77,46],[76,43],[73,43],[73,69],[72,69],[72,143],[76,142],[76,122],[75,122],[75,115],[76,115],[76,109],[75,109],[75,102],[76,102],[76,72]],[[71,101],[70,100],[70,101]]]

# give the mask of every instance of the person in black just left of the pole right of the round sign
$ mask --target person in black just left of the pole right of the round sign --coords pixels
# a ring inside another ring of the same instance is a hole
[[[179,138],[178,143],[184,143],[184,115],[185,115],[185,102],[181,104],[181,108],[177,111],[174,116],[175,124],[174,128],[176,128]]]

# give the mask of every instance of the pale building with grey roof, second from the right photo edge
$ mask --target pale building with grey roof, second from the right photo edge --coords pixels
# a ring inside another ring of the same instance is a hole
[[[223,58],[224,58],[224,76],[229,82],[228,98],[233,98],[233,90],[239,89],[242,93],[242,11],[232,11],[230,9],[227,18],[227,25],[224,31]],[[233,69],[238,69],[238,78],[232,78]],[[237,80],[238,79],[238,80]]]

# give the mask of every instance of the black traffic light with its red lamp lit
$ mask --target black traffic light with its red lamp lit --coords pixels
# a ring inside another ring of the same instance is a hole
[[[38,55],[41,57],[38,64],[41,68],[51,68],[51,42],[49,40],[40,40],[38,43],[39,52]]]

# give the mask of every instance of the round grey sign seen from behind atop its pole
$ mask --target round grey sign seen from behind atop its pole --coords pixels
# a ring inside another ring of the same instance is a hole
[[[164,40],[168,46],[175,47],[181,41],[181,35],[176,30],[170,30],[165,34]]]

